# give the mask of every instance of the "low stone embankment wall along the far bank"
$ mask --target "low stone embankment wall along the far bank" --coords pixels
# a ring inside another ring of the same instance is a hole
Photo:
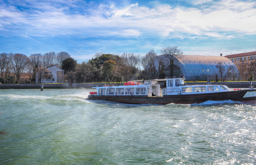
[[[188,85],[193,84],[207,84],[207,82],[188,82],[186,83]],[[226,85],[230,88],[249,88],[249,81],[237,81],[237,82],[211,82],[211,84],[222,84]],[[44,89],[51,89],[51,88],[92,88],[92,87],[100,87],[105,85],[105,83],[82,83],[82,84],[43,84]],[[111,84],[107,84],[111,85]],[[123,85],[123,84],[117,84],[117,85]],[[252,81],[252,85],[256,87],[256,81]],[[162,86],[162,84],[160,84]],[[0,84],[0,89],[40,89],[41,84]]]

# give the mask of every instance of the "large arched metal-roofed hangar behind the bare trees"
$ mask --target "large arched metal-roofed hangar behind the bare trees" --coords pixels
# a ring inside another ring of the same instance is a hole
[[[158,72],[159,64],[166,65],[165,73],[166,78],[170,78],[170,64],[168,62],[168,58],[166,55],[157,56],[157,58],[162,58],[162,63],[159,60],[155,60],[154,66],[155,71]],[[230,66],[234,68],[232,73],[228,74],[228,79],[233,78],[233,76],[237,77],[239,75],[238,69],[235,67],[233,62],[231,62],[226,57],[222,56],[196,56],[196,55],[182,55],[181,58],[174,60],[174,76],[173,78],[185,78],[187,80],[207,80],[207,76],[209,79],[215,80],[216,74],[218,74],[218,70],[216,69],[216,65],[222,62],[224,69],[227,70]],[[152,73],[153,64],[148,64],[148,71]],[[209,71],[207,71],[209,70]],[[220,75],[218,74],[218,77]]]

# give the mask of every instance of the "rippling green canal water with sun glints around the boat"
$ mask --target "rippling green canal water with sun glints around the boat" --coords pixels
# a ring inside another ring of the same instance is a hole
[[[0,164],[256,164],[256,104],[129,105],[0,89]]]

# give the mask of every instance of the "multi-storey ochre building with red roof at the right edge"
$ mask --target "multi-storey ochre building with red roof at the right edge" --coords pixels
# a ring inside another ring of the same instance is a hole
[[[251,73],[254,74],[255,79],[256,51],[231,54],[224,57],[230,59],[235,64],[242,79],[248,79]]]

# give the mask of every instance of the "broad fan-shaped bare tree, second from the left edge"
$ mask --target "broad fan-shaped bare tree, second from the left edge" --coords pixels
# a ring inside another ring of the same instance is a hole
[[[29,58],[25,54],[15,53],[11,56],[14,74],[17,82],[20,83],[20,77],[26,66],[28,65]]]

